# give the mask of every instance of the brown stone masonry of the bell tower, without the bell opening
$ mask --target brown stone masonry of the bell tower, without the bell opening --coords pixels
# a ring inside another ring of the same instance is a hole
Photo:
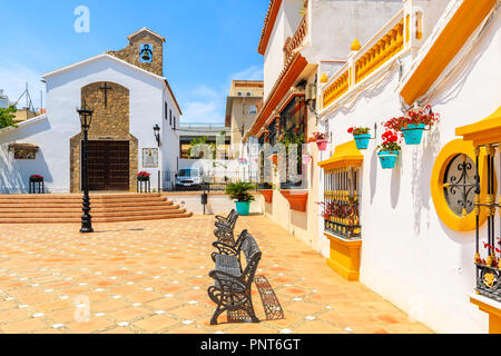
[[[143,43],[153,44],[153,61],[150,63],[139,61],[139,48]],[[130,42],[126,48],[119,51],[108,51],[107,53],[164,77],[164,41],[147,31],[139,32],[130,38]]]

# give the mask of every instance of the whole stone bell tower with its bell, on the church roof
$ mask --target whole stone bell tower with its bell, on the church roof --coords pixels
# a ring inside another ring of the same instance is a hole
[[[164,77],[164,43],[165,38],[147,28],[134,32],[129,44],[119,51],[107,53],[125,60],[134,66]]]

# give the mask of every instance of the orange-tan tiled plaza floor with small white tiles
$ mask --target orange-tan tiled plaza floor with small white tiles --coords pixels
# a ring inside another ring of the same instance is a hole
[[[263,251],[285,318],[210,326],[214,217],[144,222],[0,226],[0,333],[430,333],[263,216],[240,217]]]

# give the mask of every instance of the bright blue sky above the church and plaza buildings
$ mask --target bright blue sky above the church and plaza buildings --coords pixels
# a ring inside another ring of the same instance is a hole
[[[77,33],[78,6],[90,32]],[[42,73],[127,46],[147,27],[167,40],[164,75],[186,122],[223,122],[232,79],[263,79],[257,53],[268,0],[0,0],[0,89],[11,100],[28,81],[40,106]],[[45,96],[45,95],[43,95]]]

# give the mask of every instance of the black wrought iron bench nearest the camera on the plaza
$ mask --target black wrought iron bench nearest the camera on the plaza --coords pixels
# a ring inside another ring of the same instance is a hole
[[[236,315],[238,319],[249,318],[253,323],[259,323],[254,312],[252,285],[263,254],[256,240],[249,235],[242,243],[240,250],[247,263],[245,269],[239,257],[235,255],[214,255],[216,269],[210,271],[209,276],[215,279],[215,285],[210,286],[207,293],[217,308],[210,325],[217,325],[217,318],[224,312]]]

